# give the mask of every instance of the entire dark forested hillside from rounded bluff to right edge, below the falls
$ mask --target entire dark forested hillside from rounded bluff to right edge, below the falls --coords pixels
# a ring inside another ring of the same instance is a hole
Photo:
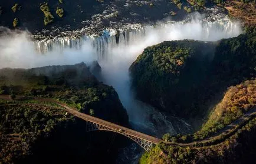
[[[227,87],[255,77],[255,47],[253,30],[215,43],[150,46],[130,66],[132,86],[139,99],[160,110],[202,117]]]

